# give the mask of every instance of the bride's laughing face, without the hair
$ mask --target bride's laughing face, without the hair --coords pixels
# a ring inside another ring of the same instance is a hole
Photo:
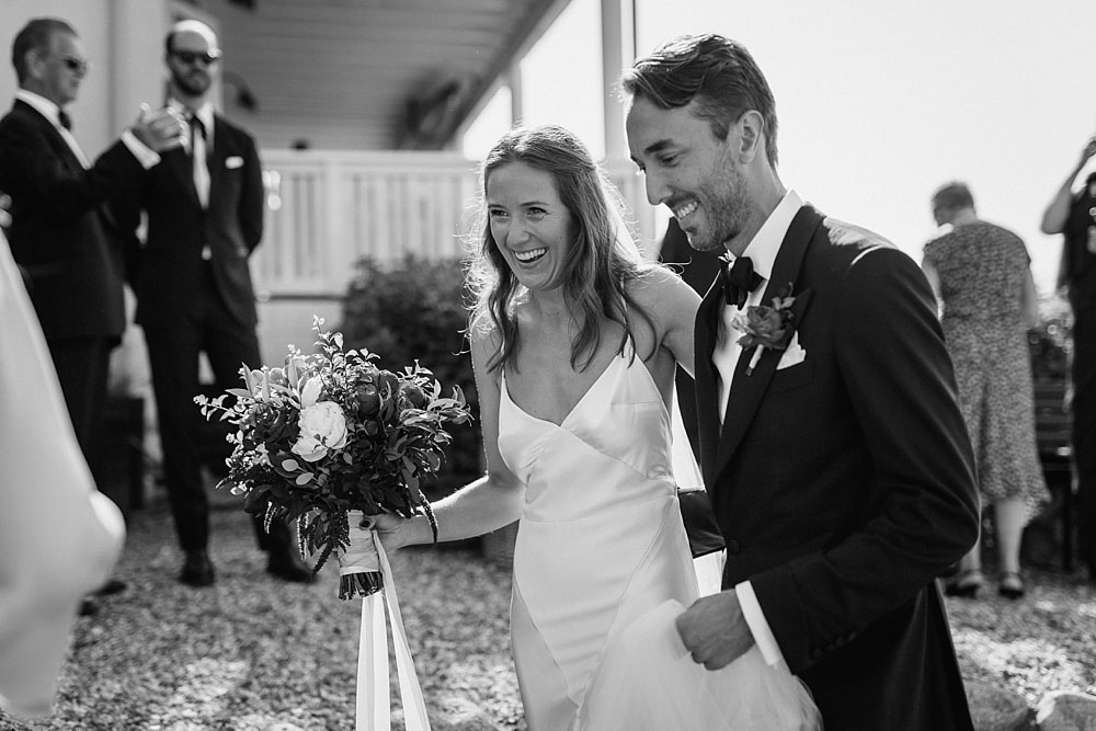
[[[529,289],[559,286],[574,241],[574,217],[551,173],[507,162],[487,179],[491,236],[517,281]]]

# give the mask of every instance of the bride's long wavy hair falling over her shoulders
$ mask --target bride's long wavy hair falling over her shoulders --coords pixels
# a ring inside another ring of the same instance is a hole
[[[471,327],[490,328],[493,323],[501,334],[501,345],[488,362],[488,370],[514,365],[521,347],[514,308],[528,296],[491,233],[486,205],[491,174],[512,162],[524,162],[550,174],[560,202],[574,220],[572,255],[563,265],[560,285],[564,301],[578,310],[582,322],[571,341],[571,367],[583,370],[590,365],[601,343],[601,318],[624,328],[617,352],[623,353],[630,341],[635,356],[636,338],[629,313],[638,312],[652,330],[654,327],[650,315],[628,294],[628,284],[657,265],[644,262],[632,243],[625,229],[625,208],[619,194],[578,137],[556,125],[517,127],[504,135],[483,160],[482,205],[476,227],[481,235],[478,252],[468,267],[468,286],[476,297]]]

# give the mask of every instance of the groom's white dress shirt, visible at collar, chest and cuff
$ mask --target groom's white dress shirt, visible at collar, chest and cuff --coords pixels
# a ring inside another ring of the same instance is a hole
[[[780,203],[777,204],[773,213],[765,219],[764,225],[762,225],[761,229],[754,235],[754,238],[750,240],[750,243],[746,244],[745,250],[742,252],[743,256],[750,256],[753,262],[754,272],[762,277],[761,285],[750,293],[742,309],[733,305],[727,305],[726,302],[720,305],[719,332],[716,335],[716,347],[711,353],[711,362],[719,375],[717,389],[720,424],[723,423],[723,414],[727,411],[727,400],[731,392],[734,368],[739,363],[739,356],[742,354],[742,346],[739,345],[738,341],[743,333],[731,325],[731,320],[735,315],[744,311],[751,305],[761,304],[762,297],[765,294],[765,287],[773,276],[773,265],[776,263],[776,255],[780,251],[780,244],[784,242],[784,237],[788,233],[791,219],[796,217],[796,214],[799,213],[802,206],[803,202],[795,191],[789,190],[784,195]],[[746,625],[750,626],[750,631],[753,632],[754,641],[757,642],[757,648],[761,650],[762,656],[765,658],[765,662],[769,665],[777,664],[784,660],[784,653],[780,652],[780,646],[777,643],[776,637],[773,635],[773,630],[765,619],[765,613],[762,612],[761,604],[757,602],[753,585],[749,581],[743,581],[734,586],[734,593],[738,595],[739,604],[742,606],[742,615],[746,620]]]

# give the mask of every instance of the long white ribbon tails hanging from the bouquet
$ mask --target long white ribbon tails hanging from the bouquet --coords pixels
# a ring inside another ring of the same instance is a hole
[[[384,589],[362,599],[362,639],[357,649],[357,723],[356,731],[391,731],[391,697],[388,693],[388,636],[385,631],[385,605],[392,618],[392,646],[396,650],[396,672],[400,678],[400,698],[403,701],[403,724],[407,731],[430,731],[426,704],[414,672],[411,650],[408,648],[400,603],[396,597],[396,582],[385,548],[375,532],[373,542],[380,557]]]

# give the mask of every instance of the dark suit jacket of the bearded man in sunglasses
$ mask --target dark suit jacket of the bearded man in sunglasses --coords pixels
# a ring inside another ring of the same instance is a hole
[[[128,275],[137,294],[136,320],[168,327],[194,305],[204,276],[202,249],[212,253],[214,281],[236,320],[254,324],[255,295],[248,258],[263,235],[263,181],[251,135],[216,115],[209,169],[209,206],[194,187],[193,161],[183,148],[161,155],[132,194],[115,205],[126,232]],[[148,216],[147,244],[136,236],[140,212]]]

